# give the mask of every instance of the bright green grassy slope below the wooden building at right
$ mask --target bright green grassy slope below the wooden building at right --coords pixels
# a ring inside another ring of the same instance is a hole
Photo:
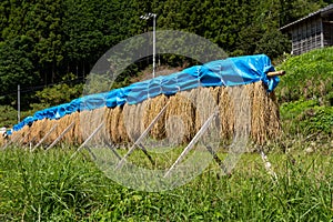
[[[333,48],[287,59],[276,89],[284,130],[290,134],[333,133]]]

